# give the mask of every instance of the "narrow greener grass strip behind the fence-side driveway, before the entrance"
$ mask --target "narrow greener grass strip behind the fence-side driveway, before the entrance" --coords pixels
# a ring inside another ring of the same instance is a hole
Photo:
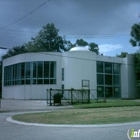
[[[106,107],[124,107],[124,106],[140,106],[140,102],[136,100],[107,100],[107,102],[95,102],[90,104],[75,104],[75,108],[106,108]]]

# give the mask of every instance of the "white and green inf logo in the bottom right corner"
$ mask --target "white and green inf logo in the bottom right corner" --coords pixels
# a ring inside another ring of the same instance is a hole
[[[135,131],[134,128],[128,129],[127,131],[127,137],[128,139],[132,140],[133,138],[139,138],[140,137],[140,129]]]

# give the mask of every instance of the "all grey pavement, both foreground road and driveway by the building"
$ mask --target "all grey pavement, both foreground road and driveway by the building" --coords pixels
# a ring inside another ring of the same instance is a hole
[[[15,124],[6,119],[24,111],[50,111],[71,108],[71,106],[50,107],[43,101],[30,100],[2,100],[1,105],[0,110],[9,112],[0,113],[0,140],[128,140],[128,129],[140,129],[139,123],[102,127],[46,127]]]

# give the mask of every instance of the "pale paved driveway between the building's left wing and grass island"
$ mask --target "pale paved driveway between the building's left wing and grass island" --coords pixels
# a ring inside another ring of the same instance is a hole
[[[49,106],[45,100],[9,100],[1,99],[0,112],[15,112],[15,111],[45,111],[73,108],[71,105],[67,106]]]

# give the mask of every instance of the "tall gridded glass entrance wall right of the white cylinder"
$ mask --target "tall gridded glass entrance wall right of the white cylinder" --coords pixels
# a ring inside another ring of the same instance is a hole
[[[97,95],[98,97],[121,97],[120,64],[97,62]]]

